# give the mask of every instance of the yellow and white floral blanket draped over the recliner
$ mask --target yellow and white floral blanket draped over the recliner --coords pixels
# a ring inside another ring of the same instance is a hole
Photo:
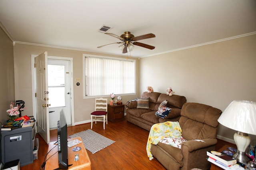
[[[177,122],[173,122],[173,121],[166,121],[164,123],[156,123],[154,124],[149,132],[148,135],[148,142],[147,142],[147,146],[146,146],[146,151],[149,157],[149,160],[153,159],[153,155],[151,153],[151,145],[157,145],[159,141],[161,141],[162,139],[162,143],[165,143],[166,138],[170,138],[172,141],[174,139],[174,143],[170,143],[170,142],[166,142],[166,144],[168,145],[172,145],[174,147],[178,147],[176,145],[176,141],[179,142],[183,142],[184,140],[186,141],[186,139],[182,138],[181,136],[181,128],[180,128],[180,123]],[[180,145],[180,143],[178,144]]]

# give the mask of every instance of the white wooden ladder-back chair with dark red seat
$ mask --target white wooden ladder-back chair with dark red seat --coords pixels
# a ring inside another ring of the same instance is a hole
[[[103,129],[105,129],[105,122],[108,124],[108,99],[96,98],[95,99],[95,111],[91,113],[91,129],[92,123],[97,121],[103,121]],[[97,119],[101,117],[100,119]]]

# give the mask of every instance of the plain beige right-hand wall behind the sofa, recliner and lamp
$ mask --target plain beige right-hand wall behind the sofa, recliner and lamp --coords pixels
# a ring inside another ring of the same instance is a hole
[[[256,35],[142,58],[140,93],[146,86],[162,93],[171,87],[187,102],[222,111],[233,100],[256,102]],[[219,138],[233,135],[220,125]]]

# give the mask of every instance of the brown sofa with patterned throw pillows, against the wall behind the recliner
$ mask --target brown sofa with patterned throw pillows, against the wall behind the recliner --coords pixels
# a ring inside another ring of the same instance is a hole
[[[182,106],[186,103],[184,96],[162,94],[158,92],[144,92],[141,98],[149,98],[149,109],[137,108],[137,100],[130,100],[126,102],[126,120],[150,131],[150,128],[155,123],[162,123],[165,121],[178,121],[180,119],[180,111]],[[164,100],[167,100],[167,107],[172,108],[172,111],[164,119],[156,117],[155,113],[158,107]]]

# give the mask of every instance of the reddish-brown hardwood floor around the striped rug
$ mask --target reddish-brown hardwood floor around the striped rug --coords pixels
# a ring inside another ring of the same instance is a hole
[[[68,135],[90,129],[90,126],[91,123],[86,123],[68,127]],[[105,130],[102,122],[98,122],[96,125],[93,124],[92,130],[116,141],[95,154],[87,150],[92,170],[165,170],[156,158],[151,161],[148,159],[146,154],[148,131],[126,120],[115,123],[108,121]],[[40,135],[36,134],[36,138],[39,139],[38,159],[34,160],[33,164],[20,167],[20,170],[40,170],[48,151],[48,145]],[[57,141],[57,130],[50,131],[50,141]],[[230,143],[218,140],[216,150],[225,144]]]

